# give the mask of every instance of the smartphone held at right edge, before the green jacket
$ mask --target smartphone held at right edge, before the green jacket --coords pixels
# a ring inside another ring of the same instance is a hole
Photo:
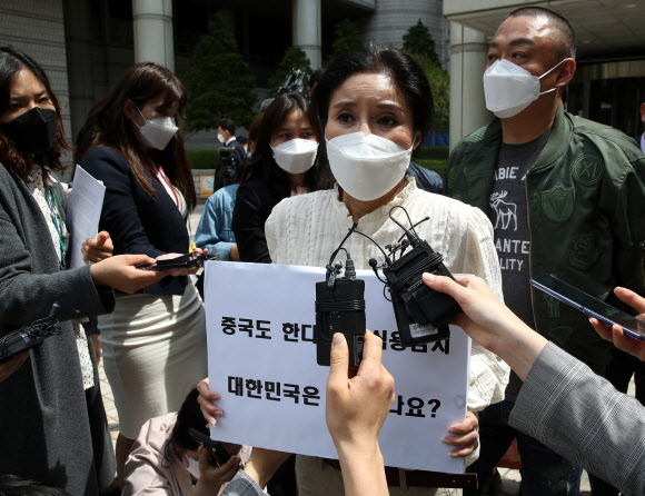
[[[631,315],[587,295],[550,274],[530,279],[530,284],[537,289],[559,299],[569,307],[575,308],[589,317],[597,318],[607,326],[617,324],[623,328],[625,335],[634,339],[641,341],[645,340],[645,321],[632,317]]]

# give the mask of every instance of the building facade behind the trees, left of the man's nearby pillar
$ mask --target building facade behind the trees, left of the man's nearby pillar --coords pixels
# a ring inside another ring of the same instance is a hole
[[[216,11],[255,73],[260,99],[288,47],[301,47],[314,69],[322,67],[343,19],[356,22],[364,41],[396,47],[421,19],[439,59],[449,59],[440,0],[0,0],[0,43],[24,50],[46,68],[73,140],[91,107],[132,63],[150,60],[182,78]],[[187,146],[219,145],[214,133],[199,132]]]

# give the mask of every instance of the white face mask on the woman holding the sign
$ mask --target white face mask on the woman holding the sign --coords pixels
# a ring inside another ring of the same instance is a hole
[[[328,139],[327,156],[338,186],[357,200],[371,201],[400,182],[413,147],[406,150],[380,136],[353,132]]]

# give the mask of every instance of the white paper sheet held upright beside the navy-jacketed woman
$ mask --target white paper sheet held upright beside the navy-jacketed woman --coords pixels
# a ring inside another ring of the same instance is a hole
[[[86,172],[81,166],[76,166],[66,219],[70,234],[70,269],[85,265],[81,247],[86,239],[97,236],[105,196],[106,187],[102,182]]]

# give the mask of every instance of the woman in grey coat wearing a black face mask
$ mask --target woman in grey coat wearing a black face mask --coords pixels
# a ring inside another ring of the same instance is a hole
[[[96,495],[115,463],[93,350],[70,319],[111,311],[111,289],[133,292],[167,272],[137,270],[146,255],[67,268],[66,196],[54,172],[69,149],[43,70],[0,47],[0,347],[58,301],[59,335],[20,357],[0,384],[0,467],[75,495]],[[95,256],[96,254],[86,254]]]

